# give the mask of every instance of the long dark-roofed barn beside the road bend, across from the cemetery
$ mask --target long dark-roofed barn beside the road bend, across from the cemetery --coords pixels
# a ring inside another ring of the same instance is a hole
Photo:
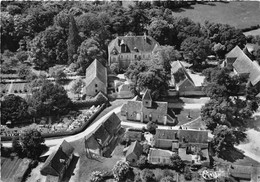
[[[115,113],[110,114],[96,130],[85,138],[88,154],[109,156],[115,147],[121,129],[121,120]]]

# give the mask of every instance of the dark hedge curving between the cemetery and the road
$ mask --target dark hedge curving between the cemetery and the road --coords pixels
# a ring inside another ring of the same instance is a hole
[[[44,133],[42,134],[43,138],[55,138],[55,137],[61,137],[61,136],[70,136],[75,135],[83,130],[85,130],[95,119],[96,117],[106,108],[106,104],[102,104],[102,106],[98,109],[97,112],[95,112],[88,120],[88,122],[85,122],[80,128],[77,128],[73,131],[63,131],[63,132],[56,132],[56,133]],[[11,141],[13,137],[10,136],[2,136],[2,141]]]

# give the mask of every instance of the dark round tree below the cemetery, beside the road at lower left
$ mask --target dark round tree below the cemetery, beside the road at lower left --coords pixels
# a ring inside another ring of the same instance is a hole
[[[46,148],[44,138],[36,129],[28,129],[19,136],[22,152],[31,159],[38,159]]]

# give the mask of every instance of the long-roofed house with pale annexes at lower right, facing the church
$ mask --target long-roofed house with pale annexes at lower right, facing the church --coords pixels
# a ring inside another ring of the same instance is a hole
[[[155,148],[171,150],[183,161],[208,165],[208,131],[182,129],[156,129]]]

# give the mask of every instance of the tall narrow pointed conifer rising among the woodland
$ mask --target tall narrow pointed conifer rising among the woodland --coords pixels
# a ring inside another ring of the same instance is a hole
[[[69,36],[67,40],[68,47],[68,62],[74,62],[73,56],[77,54],[77,49],[81,43],[80,36],[78,34],[77,25],[72,15],[69,16]]]

